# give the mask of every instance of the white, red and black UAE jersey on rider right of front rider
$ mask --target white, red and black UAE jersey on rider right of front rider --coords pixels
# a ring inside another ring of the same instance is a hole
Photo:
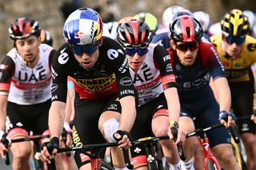
[[[165,48],[157,44],[149,45],[145,61],[138,73],[130,68],[130,76],[138,91],[139,105],[158,97],[164,89],[176,86],[170,56]]]

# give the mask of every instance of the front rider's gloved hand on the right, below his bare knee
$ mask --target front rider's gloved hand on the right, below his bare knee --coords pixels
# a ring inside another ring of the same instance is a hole
[[[133,137],[130,135],[129,132],[118,130],[113,135],[114,139],[118,142],[118,148],[122,150],[122,148],[130,148],[131,147],[131,141],[133,140]]]

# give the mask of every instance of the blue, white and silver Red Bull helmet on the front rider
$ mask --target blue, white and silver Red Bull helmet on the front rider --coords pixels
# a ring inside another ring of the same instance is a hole
[[[90,8],[75,10],[66,19],[63,36],[70,45],[87,45],[102,38],[102,18]]]

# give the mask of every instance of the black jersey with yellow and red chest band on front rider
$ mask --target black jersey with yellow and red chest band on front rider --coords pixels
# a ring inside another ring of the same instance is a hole
[[[128,62],[122,46],[104,37],[98,61],[93,68],[84,69],[74,57],[70,45],[64,44],[52,62],[52,101],[66,102],[66,78],[70,76],[80,99],[101,99],[118,93],[118,97],[134,96]]]

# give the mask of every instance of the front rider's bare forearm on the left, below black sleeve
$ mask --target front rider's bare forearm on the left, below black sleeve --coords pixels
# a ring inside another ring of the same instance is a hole
[[[50,137],[61,136],[64,116],[65,116],[65,103],[62,101],[53,101],[50,106],[49,112],[49,129]]]

